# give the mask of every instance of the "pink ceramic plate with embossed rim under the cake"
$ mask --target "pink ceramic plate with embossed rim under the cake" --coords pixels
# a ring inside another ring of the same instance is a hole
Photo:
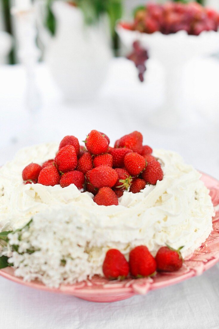
[[[219,181],[202,175],[202,180],[210,190],[214,206],[219,205]],[[114,302],[129,298],[136,294],[146,294],[148,291],[163,288],[183,280],[202,274],[219,261],[219,209],[212,219],[213,231],[208,239],[192,255],[186,258],[183,267],[172,273],[159,273],[153,278],[127,279],[124,281],[109,281],[98,276],[92,280],[74,285],[61,285],[60,288],[48,288],[38,281],[24,282],[14,276],[13,269],[7,267],[0,270],[0,275],[17,283],[36,289],[70,294],[94,302]]]

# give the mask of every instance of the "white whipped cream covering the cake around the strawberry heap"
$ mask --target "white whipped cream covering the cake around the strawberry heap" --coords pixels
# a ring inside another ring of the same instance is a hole
[[[184,246],[185,257],[210,234],[214,209],[208,189],[200,173],[178,154],[154,150],[162,164],[163,180],[156,186],[146,185],[140,193],[124,192],[118,206],[105,207],[93,201],[93,194],[81,193],[73,184],[66,188],[23,184],[23,168],[53,159],[57,150],[56,143],[28,147],[0,168],[1,230],[20,228],[31,218],[42,222],[57,214],[63,220],[68,217],[82,232],[80,252],[88,254],[90,275],[102,275],[110,248],[119,249],[128,259],[137,245],[146,245],[155,255],[167,243],[176,249]]]

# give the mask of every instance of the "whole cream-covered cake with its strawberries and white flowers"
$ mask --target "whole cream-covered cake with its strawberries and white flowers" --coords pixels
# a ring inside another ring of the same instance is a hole
[[[210,234],[213,205],[199,172],[142,140],[111,147],[92,130],[85,146],[66,136],[2,166],[0,267],[55,287],[179,269]]]

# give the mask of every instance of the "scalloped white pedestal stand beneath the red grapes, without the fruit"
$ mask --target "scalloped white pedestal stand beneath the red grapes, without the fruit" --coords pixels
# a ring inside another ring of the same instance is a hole
[[[164,67],[164,104],[149,120],[161,127],[177,129],[196,124],[192,109],[185,102],[182,81],[184,65],[194,57],[216,53],[219,50],[219,33],[203,31],[199,36],[188,35],[186,31],[169,35],[161,32],[147,34],[125,29],[121,23],[117,26],[117,32],[128,48],[132,47],[135,40],[139,40],[148,50],[149,57],[158,60]]]

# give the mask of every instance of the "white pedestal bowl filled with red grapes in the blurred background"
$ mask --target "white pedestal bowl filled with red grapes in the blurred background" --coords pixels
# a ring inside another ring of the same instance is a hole
[[[219,50],[218,28],[219,13],[196,2],[149,3],[135,10],[133,22],[118,24],[117,32],[125,46],[131,48],[138,41],[149,58],[163,65],[165,100],[156,123],[185,125],[191,109],[182,91],[184,65]]]

